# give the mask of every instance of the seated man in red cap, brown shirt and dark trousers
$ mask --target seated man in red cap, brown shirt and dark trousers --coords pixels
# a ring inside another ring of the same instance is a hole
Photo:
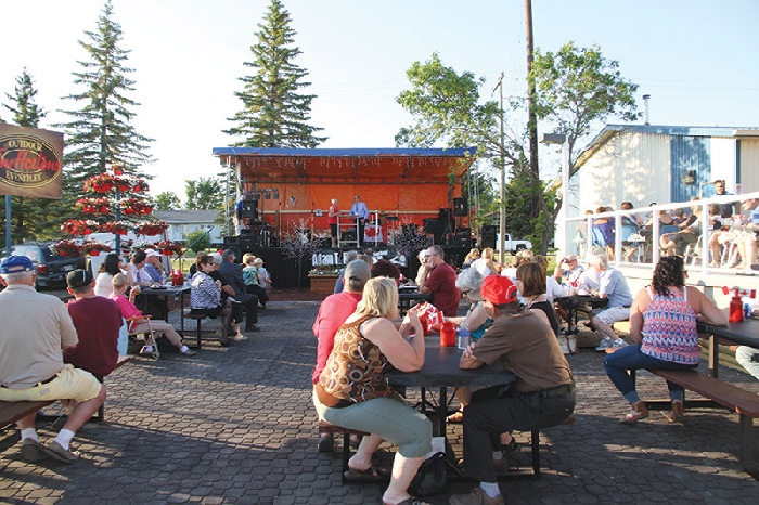
[[[516,286],[507,277],[490,275],[479,294],[493,324],[464,349],[459,365],[477,368],[498,361],[516,381],[476,391],[464,409],[464,471],[480,484],[451,496],[453,505],[505,503],[498,487],[498,470],[506,468],[500,433],[556,426],[575,410],[575,384],[558,340],[518,302]]]

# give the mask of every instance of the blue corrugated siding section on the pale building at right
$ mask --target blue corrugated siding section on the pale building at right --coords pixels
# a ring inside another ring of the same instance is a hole
[[[671,202],[687,202],[692,196],[698,196],[702,181],[711,180],[711,145],[705,137],[672,135],[670,138],[671,159]],[[683,184],[683,176],[687,171],[695,172],[693,184]],[[669,203],[669,200],[660,202]]]

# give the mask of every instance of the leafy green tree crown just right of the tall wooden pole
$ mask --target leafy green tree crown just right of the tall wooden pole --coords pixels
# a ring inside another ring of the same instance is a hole
[[[625,79],[619,62],[605,59],[599,46],[578,48],[568,42],[556,53],[536,50],[528,79],[538,92],[538,118],[549,120],[556,133],[567,135],[573,166],[577,141],[588,137],[594,124],[609,116],[625,121],[640,118],[634,98],[638,85]]]

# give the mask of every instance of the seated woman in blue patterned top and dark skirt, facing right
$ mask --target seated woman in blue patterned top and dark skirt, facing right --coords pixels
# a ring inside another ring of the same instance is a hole
[[[223,347],[232,345],[229,336],[229,319],[232,313],[230,302],[221,301],[221,281],[214,281],[210,272],[214,271],[214,257],[203,255],[197,258],[195,264],[198,271],[190,280],[190,312],[193,314],[205,314],[216,319],[221,316],[221,338],[219,341]]]

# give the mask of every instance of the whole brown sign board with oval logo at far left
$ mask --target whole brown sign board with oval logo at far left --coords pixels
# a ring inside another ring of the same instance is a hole
[[[0,195],[61,198],[63,133],[0,125]]]

